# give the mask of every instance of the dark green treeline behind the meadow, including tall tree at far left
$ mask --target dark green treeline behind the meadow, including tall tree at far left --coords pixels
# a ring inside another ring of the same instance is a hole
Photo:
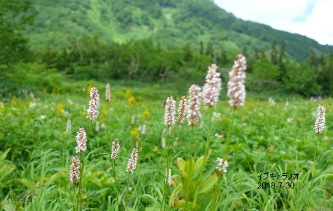
[[[211,63],[218,65],[225,86],[238,53],[247,59],[247,90],[279,90],[303,96],[333,93],[332,55],[318,57],[311,51],[307,60],[298,63],[285,53],[284,41],[278,43],[279,47],[273,42],[263,52],[247,51],[246,47],[242,52],[228,52],[211,42],[165,47],[152,39],[117,43],[88,36],[78,38],[62,50],[54,47],[32,50],[22,33],[24,26],[33,23],[31,2],[17,5],[5,1],[0,17],[2,95],[23,86],[50,91],[61,88],[63,81],[81,80],[202,84]]]

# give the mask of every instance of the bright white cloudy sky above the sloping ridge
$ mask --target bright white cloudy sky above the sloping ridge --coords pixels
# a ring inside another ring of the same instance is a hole
[[[243,20],[333,45],[333,0],[214,0]]]

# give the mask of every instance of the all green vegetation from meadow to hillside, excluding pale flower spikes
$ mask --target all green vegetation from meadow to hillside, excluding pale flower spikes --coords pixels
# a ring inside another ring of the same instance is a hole
[[[205,0],[111,3],[0,0],[0,209],[75,210],[73,196],[81,194],[73,194],[69,170],[81,127],[89,131],[79,175],[84,210],[175,210],[186,200],[190,210],[296,211],[306,208],[310,193],[314,210],[332,207],[332,100],[300,97],[332,95],[331,46],[242,21]],[[247,58],[246,102],[232,111],[225,86],[238,53]],[[222,101],[201,106],[193,130],[185,120],[173,126],[172,136],[163,133],[163,101],[171,95],[178,101],[192,83],[201,86],[213,62]],[[92,86],[99,89],[100,106],[90,126]],[[253,100],[270,96],[288,101]],[[327,123],[316,135],[318,104],[327,109]],[[163,139],[171,137],[178,144],[169,159]],[[114,138],[121,146],[115,167]],[[129,179],[134,147],[139,159]],[[219,173],[222,154],[229,167]],[[196,162],[189,165],[192,157]],[[267,172],[298,179],[258,178]],[[276,186],[259,189],[258,182]]]

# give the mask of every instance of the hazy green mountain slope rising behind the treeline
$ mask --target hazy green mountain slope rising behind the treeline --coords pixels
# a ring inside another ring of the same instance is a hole
[[[209,0],[35,0],[35,24],[27,29],[34,48],[64,48],[79,37],[95,36],[105,42],[153,38],[163,45],[211,42],[227,52],[266,51],[273,41],[285,41],[286,52],[299,61],[333,52],[299,34],[244,21]]]

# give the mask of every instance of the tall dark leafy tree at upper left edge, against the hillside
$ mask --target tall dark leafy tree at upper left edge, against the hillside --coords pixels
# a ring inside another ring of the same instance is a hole
[[[28,40],[23,32],[33,24],[35,12],[30,0],[0,0],[0,63],[27,59]]]

